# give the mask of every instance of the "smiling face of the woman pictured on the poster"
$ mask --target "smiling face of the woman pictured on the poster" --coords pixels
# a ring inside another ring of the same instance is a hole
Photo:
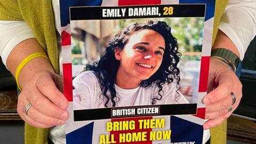
[[[129,36],[123,50],[115,50],[116,59],[120,60],[118,73],[138,80],[148,79],[161,66],[164,49],[164,38],[156,31],[136,31]]]

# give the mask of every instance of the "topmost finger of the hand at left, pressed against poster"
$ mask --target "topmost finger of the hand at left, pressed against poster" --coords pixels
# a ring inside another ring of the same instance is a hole
[[[55,105],[62,109],[68,107],[68,101],[64,95],[57,89],[50,75],[42,75],[36,81],[38,89],[49,98]]]

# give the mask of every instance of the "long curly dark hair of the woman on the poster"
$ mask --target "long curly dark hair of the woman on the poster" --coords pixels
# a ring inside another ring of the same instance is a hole
[[[180,70],[177,67],[179,58],[181,54],[178,52],[177,39],[171,34],[171,27],[166,24],[164,21],[146,21],[146,22],[135,22],[131,25],[124,28],[120,31],[114,38],[108,43],[109,46],[106,48],[106,51],[102,54],[99,62],[95,62],[92,65],[86,65],[85,70],[92,70],[95,76],[98,78],[100,89],[102,94],[107,98],[105,102],[105,107],[108,107],[107,104],[111,100],[112,106],[116,106],[116,90],[115,90],[115,81],[117,70],[119,68],[119,60],[115,58],[115,49],[118,47],[123,50],[125,44],[129,40],[129,36],[142,29],[154,30],[157,33],[161,34],[165,40],[165,51],[163,55],[163,61],[161,66],[146,80],[143,80],[140,84],[142,87],[148,87],[151,84],[155,83],[158,90],[158,97],[152,99],[152,105],[156,100],[161,100],[162,95],[161,91],[163,89],[162,85],[165,83],[171,83],[175,79],[177,83],[177,95],[175,96],[175,101],[179,97],[179,82],[180,82]],[[109,65],[111,63],[111,66]],[[110,95],[107,94],[109,91]],[[117,98],[118,99],[118,98]]]

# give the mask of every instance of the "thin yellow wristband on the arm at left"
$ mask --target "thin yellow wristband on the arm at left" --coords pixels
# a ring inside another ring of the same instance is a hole
[[[20,65],[18,66],[18,68],[16,69],[16,73],[15,73],[15,79],[16,79],[16,82],[17,82],[17,86],[19,87],[19,89],[21,90],[20,88],[20,85],[19,85],[19,82],[18,82],[18,78],[19,78],[19,75],[20,75],[20,71],[22,70],[22,68],[30,61],[30,60],[33,60],[37,57],[43,57],[43,58],[46,58],[46,59],[49,59],[47,57],[46,54],[42,53],[42,52],[37,52],[37,53],[33,53],[33,54],[30,54],[28,55],[28,57],[26,57],[25,59],[23,59],[21,62],[20,62]]]

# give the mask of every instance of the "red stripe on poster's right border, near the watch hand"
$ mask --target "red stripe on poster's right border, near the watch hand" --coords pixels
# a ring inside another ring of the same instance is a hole
[[[207,92],[210,57],[202,57],[198,92]]]

